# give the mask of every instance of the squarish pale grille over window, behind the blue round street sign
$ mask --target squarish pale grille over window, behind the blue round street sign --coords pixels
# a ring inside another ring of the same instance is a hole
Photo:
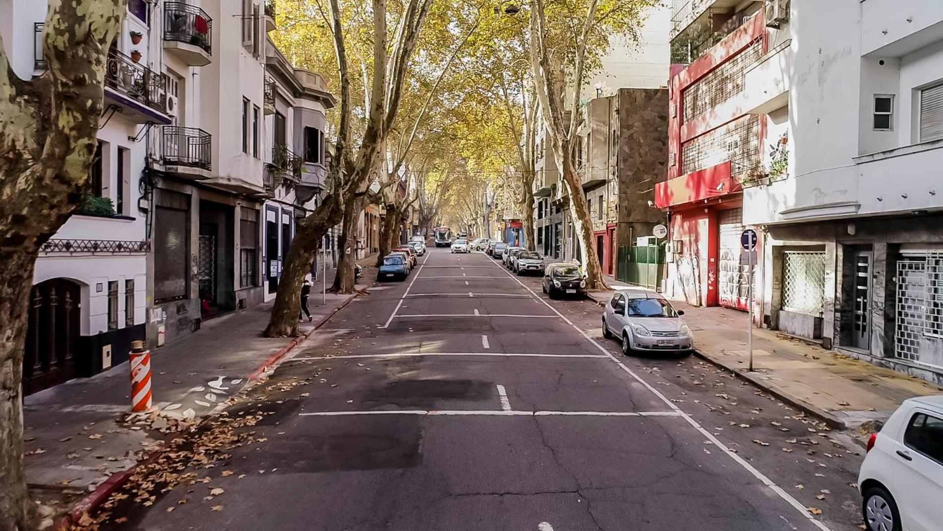
[[[783,264],[783,307],[821,315],[825,304],[825,253],[786,251]]]

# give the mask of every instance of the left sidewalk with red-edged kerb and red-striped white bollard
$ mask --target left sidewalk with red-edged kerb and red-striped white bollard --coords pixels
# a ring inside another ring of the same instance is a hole
[[[365,268],[366,269],[366,268]],[[366,290],[372,276],[361,277]],[[273,303],[206,322],[203,329],[151,352],[152,422],[119,422],[130,411],[127,362],[91,378],[76,378],[25,397],[26,480],[31,487],[94,490],[114,473],[133,467],[157,445],[160,430],[184,419],[199,420],[221,407],[268,365],[344,307],[359,293],[312,293],[312,323],[300,338],[261,338]],[[151,431],[149,431],[151,430]]]

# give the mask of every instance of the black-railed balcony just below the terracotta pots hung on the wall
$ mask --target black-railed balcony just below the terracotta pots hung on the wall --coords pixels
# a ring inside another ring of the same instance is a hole
[[[170,124],[167,116],[167,75],[134,62],[118,50],[108,51],[106,103],[122,108],[122,116],[139,124]]]

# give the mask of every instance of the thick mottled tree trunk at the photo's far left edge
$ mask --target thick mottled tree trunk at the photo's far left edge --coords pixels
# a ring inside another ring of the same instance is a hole
[[[31,80],[13,73],[0,41],[0,530],[33,527],[21,391],[33,268],[89,188],[108,44],[125,8],[124,0],[50,2],[48,70]]]

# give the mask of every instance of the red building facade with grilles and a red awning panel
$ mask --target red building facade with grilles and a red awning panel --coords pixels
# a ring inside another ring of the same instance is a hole
[[[668,180],[655,185],[654,203],[670,214],[672,298],[747,309],[740,183],[759,168],[766,118],[748,113],[744,78],[766,51],[754,15],[671,77]]]

